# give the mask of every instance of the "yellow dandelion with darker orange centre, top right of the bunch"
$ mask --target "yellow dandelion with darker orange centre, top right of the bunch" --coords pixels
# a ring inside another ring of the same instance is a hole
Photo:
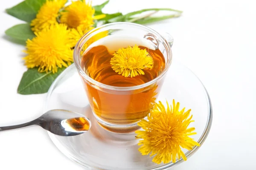
[[[80,26],[84,30],[93,26],[93,20],[105,17],[105,14],[94,17],[94,13],[95,10],[91,5],[91,1],[72,1],[72,3],[61,12],[60,21],[61,23],[67,24],[70,28]]]

